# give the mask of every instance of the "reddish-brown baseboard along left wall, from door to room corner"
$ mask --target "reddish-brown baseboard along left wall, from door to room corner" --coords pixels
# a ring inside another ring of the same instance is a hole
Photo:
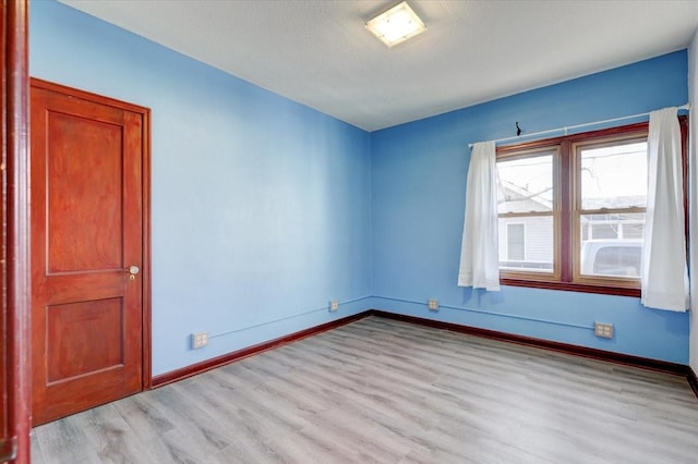
[[[151,380],[151,387],[158,388],[158,387],[166,386],[168,383],[183,380],[189,377],[193,377],[197,374],[202,374],[207,370],[215,369],[216,367],[225,366],[226,364],[230,364],[234,361],[240,361],[244,357],[252,356],[257,353],[262,353],[264,351],[272,350],[277,346],[281,346],[300,339],[312,337],[317,333],[325,332],[327,330],[336,329],[337,327],[345,326],[347,323],[353,322],[354,320],[363,319],[364,317],[368,317],[369,314],[370,314],[369,312],[363,312],[353,316],[347,316],[341,319],[325,322],[320,326],[311,327],[309,329],[293,332],[285,337],[279,337],[278,339],[269,340],[268,342],[260,343],[253,346],[248,346],[245,349],[234,351],[232,353],[224,354],[221,356],[206,359],[201,363],[192,364],[190,366],[182,367],[181,369],[170,370],[169,373],[160,374],[158,376],[153,377],[153,379]]]

